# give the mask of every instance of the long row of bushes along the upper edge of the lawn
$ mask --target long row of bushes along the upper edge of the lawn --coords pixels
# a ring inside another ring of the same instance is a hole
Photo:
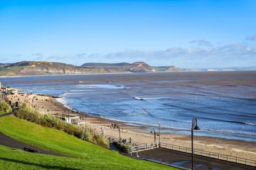
[[[72,136],[76,136],[84,141],[103,146],[104,148],[109,148],[108,139],[87,125],[79,127],[78,125],[68,124],[51,114],[42,115],[27,103],[20,104],[19,110],[16,111],[15,116],[38,125],[64,131],[67,134],[71,134]]]

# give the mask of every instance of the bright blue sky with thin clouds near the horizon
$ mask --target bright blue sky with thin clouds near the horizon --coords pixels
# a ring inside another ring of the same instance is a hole
[[[256,66],[256,1],[0,1],[0,62]]]

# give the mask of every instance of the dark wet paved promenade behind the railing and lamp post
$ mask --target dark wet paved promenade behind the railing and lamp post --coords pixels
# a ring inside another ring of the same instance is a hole
[[[133,153],[135,156],[136,153]],[[138,152],[139,159],[146,159],[151,161],[156,161],[170,166],[182,167],[184,169],[191,169],[191,154],[167,150],[164,148],[156,148],[153,150],[146,150],[143,152]],[[227,162],[224,160],[211,159],[207,157],[202,157],[199,155],[194,156],[195,170],[198,169],[255,169],[256,167],[246,166],[243,164],[236,164],[232,162]]]

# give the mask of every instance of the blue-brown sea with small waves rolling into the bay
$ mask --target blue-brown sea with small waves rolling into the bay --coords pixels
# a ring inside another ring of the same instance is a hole
[[[0,78],[68,108],[161,132],[256,141],[256,71],[80,74]],[[148,132],[150,130],[148,129]]]

